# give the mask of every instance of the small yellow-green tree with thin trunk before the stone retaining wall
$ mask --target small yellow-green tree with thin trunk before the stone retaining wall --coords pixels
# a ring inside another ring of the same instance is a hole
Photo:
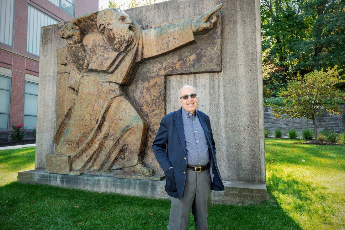
[[[324,111],[329,115],[343,112],[339,103],[345,101],[345,94],[335,87],[336,84],[344,82],[339,76],[339,71],[341,69],[336,70],[336,67],[327,68],[326,71],[315,70],[289,82],[287,90],[279,93],[279,96],[284,98],[284,107],[277,105],[272,107],[274,117],[311,119],[316,143],[316,117]]]

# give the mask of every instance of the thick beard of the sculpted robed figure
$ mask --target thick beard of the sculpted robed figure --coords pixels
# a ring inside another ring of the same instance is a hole
[[[132,28],[132,25],[129,25]],[[110,46],[112,46],[116,52],[127,51],[132,45],[134,39],[134,32],[128,28],[128,25],[122,27],[116,27],[114,29],[105,29],[104,36],[106,37]]]

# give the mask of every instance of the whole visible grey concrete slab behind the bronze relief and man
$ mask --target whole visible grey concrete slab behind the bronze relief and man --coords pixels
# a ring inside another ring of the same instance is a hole
[[[223,180],[265,183],[259,1],[172,0],[126,13],[146,26],[198,16],[221,2],[222,71],[167,76],[167,112],[178,108],[178,88],[185,84],[197,87],[199,109],[211,119]],[[36,169],[44,168],[45,155],[54,150],[56,49],[66,44],[57,36],[61,26],[49,26],[47,33],[42,29]]]

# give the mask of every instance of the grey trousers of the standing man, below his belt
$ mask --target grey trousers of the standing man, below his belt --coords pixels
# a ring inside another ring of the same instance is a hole
[[[211,207],[211,178],[209,169],[202,172],[186,171],[186,184],[182,198],[169,197],[171,208],[168,230],[186,230],[190,209],[195,229],[207,230],[207,215]]]

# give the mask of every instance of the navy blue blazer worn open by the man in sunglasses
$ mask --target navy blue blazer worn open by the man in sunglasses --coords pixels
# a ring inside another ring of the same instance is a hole
[[[186,139],[181,109],[171,112],[162,118],[156,138],[152,144],[152,150],[156,159],[167,176],[165,191],[169,196],[178,199],[181,199],[183,195],[186,182],[186,173],[183,172],[187,171]],[[201,111],[197,111],[197,114],[206,135],[211,159],[210,165],[213,166],[211,188],[212,190],[221,191],[224,190],[224,185],[217,166],[216,147],[210,119]],[[172,169],[168,170],[170,167]]]

